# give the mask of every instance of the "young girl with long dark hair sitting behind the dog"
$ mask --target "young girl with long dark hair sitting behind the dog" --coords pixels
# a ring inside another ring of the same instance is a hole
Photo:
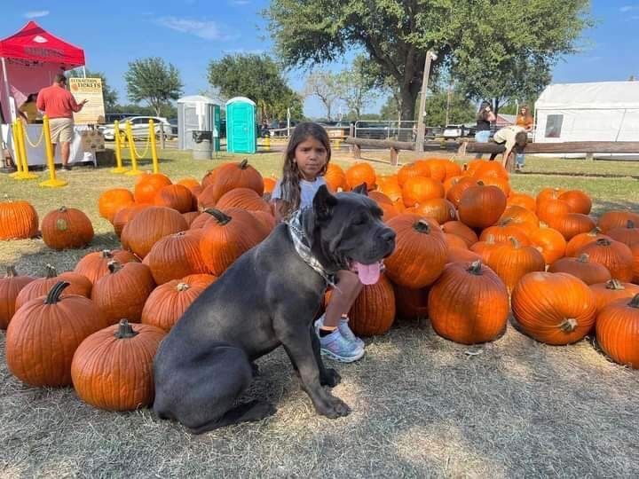
[[[321,185],[330,161],[328,135],[317,123],[304,122],[296,126],[288,141],[282,177],[273,188],[271,200],[275,219],[288,219],[296,210],[312,207],[312,200]],[[364,356],[364,342],[352,333],[347,313],[363,285],[351,271],[337,271],[335,288],[326,312],[315,322],[322,354],[343,363]]]

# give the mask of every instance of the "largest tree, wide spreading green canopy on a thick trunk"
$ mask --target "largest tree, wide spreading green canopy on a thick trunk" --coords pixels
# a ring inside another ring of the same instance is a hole
[[[521,78],[533,75],[536,67],[552,65],[558,56],[575,50],[581,30],[589,25],[588,0],[560,5],[549,0],[272,0],[264,14],[289,67],[313,67],[353,48],[365,51],[379,67],[378,81],[390,76],[396,82],[403,120],[414,118],[429,49],[438,54],[433,81],[441,66],[453,64],[455,78],[461,80],[466,62],[472,66],[469,73],[497,62],[496,73],[488,68],[490,79],[510,82],[508,68],[520,70],[515,73]],[[478,75],[470,77],[469,93],[487,94],[488,88],[479,91]]]

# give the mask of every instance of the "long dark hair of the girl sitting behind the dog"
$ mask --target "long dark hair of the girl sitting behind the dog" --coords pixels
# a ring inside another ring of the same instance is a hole
[[[326,148],[327,162],[319,175],[324,175],[327,171],[331,150],[326,130],[324,130],[321,125],[313,122],[303,122],[298,124],[288,140],[286,153],[284,153],[284,168],[282,169],[282,179],[280,183],[280,214],[282,217],[287,217],[290,213],[299,208],[300,197],[302,194],[299,183],[301,175],[297,168],[297,162],[295,161],[295,152],[297,145],[309,137],[318,140],[319,143]]]

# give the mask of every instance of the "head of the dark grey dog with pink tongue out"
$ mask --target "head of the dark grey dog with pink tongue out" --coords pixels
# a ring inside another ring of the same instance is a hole
[[[312,251],[328,271],[357,271],[364,284],[379,277],[380,261],[395,249],[395,232],[383,224],[366,185],[335,195],[321,186],[312,214]]]

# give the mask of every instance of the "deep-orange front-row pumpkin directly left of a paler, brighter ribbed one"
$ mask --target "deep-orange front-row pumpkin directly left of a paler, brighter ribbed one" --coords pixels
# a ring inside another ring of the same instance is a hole
[[[490,268],[450,263],[430,288],[430,323],[440,336],[461,344],[493,341],[505,329],[509,296]]]

